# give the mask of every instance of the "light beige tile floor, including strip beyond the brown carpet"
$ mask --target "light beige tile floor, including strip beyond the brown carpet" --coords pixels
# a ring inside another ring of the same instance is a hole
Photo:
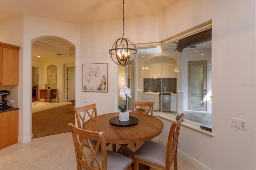
[[[34,102],[33,102],[34,103]],[[41,107],[40,111],[52,107],[58,107],[64,104],[51,103]],[[129,148],[136,150],[142,143],[130,144]],[[112,150],[112,145],[108,146]],[[30,143],[16,143],[10,147],[0,150],[0,170],[76,170],[76,156],[74,152],[74,144],[70,132],[46,137],[32,139]],[[155,170],[151,168],[151,170]],[[174,170],[173,166],[171,170]],[[196,170],[184,160],[178,158],[178,170]]]

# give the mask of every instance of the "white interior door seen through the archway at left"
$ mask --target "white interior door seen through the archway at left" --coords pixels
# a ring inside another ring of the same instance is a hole
[[[75,67],[68,67],[67,68],[68,72],[68,101],[75,100]]]

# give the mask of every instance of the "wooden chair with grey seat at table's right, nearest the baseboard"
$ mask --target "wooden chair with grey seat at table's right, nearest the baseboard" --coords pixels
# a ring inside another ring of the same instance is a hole
[[[183,117],[184,113],[181,113],[180,119],[172,123],[167,146],[153,141],[146,141],[134,152],[134,170],[139,169],[139,163],[158,170],[170,170],[173,162],[174,170],[177,170],[177,145]]]

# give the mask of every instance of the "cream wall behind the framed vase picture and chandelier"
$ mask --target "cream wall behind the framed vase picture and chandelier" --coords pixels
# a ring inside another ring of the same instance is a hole
[[[156,42],[158,39],[158,16],[146,16],[125,19],[124,37],[132,39],[136,43]],[[120,24],[121,23],[121,24]],[[114,20],[101,23],[91,23],[81,27],[81,58],[76,68],[82,72],[82,64],[86,63],[108,63],[108,93],[82,92],[82,75],[76,74],[76,106],[82,106],[84,99],[87,104],[96,103],[98,115],[118,111],[118,66],[110,59],[108,53],[111,43],[122,37],[122,20]],[[93,41],[92,41],[93,40]],[[109,100],[112,99],[112,100]]]

